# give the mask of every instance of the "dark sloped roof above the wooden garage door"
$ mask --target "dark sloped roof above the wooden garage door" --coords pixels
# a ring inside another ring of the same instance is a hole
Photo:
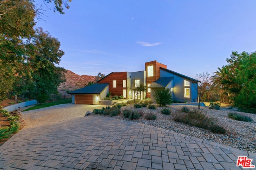
[[[80,88],[69,92],[69,94],[100,94],[104,88],[108,86],[108,83],[103,84],[92,84],[90,86],[86,86],[84,88]]]

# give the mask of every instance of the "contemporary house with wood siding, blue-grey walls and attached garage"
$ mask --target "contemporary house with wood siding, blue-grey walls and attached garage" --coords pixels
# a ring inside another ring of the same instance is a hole
[[[73,104],[102,104],[108,92],[112,96],[123,96],[131,99],[151,98],[154,100],[154,90],[169,88],[173,100],[180,102],[198,101],[198,80],[168,70],[167,66],[157,61],[145,63],[145,71],[111,72],[96,84],[69,92]],[[146,92],[134,94],[133,89],[146,86]]]

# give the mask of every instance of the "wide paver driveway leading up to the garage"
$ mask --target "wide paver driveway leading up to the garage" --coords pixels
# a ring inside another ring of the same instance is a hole
[[[63,104],[22,113],[27,126],[0,147],[0,169],[242,169],[256,154]],[[254,168],[255,169],[255,168]]]

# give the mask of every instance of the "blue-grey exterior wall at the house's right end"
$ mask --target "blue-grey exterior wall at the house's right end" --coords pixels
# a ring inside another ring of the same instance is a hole
[[[197,83],[192,83],[191,80],[185,79],[183,77],[177,76],[176,74],[172,74],[165,70],[160,70],[160,77],[174,77],[173,82],[173,100],[178,100],[180,102],[197,102]],[[190,82],[190,97],[184,97],[184,88],[188,88],[188,86],[184,86],[184,80]]]

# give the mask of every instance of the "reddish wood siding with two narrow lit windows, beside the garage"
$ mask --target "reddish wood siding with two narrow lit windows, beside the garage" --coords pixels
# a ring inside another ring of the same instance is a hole
[[[116,80],[116,88],[113,88],[113,80]],[[127,72],[113,72],[112,74],[98,81],[98,83],[109,83],[108,91],[111,92],[111,95],[121,96],[123,95],[123,89],[127,91],[127,88],[123,88],[123,80],[126,80],[127,87]]]

